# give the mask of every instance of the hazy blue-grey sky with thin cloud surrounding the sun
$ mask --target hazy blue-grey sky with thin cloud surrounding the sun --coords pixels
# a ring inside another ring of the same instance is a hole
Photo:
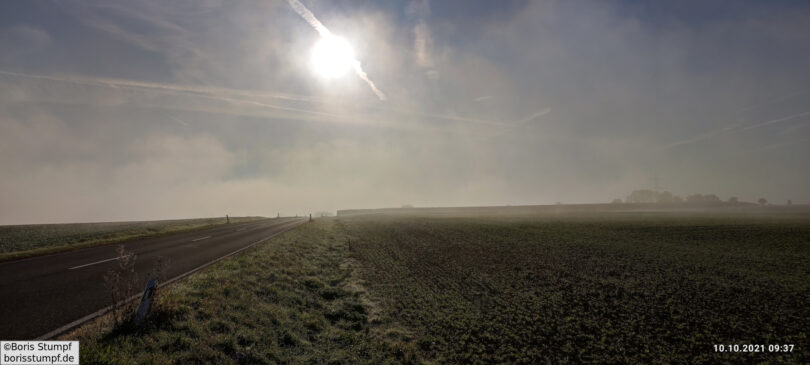
[[[0,224],[810,203],[810,3],[0,2]],[[654,179],[655,178],[655,179]]]

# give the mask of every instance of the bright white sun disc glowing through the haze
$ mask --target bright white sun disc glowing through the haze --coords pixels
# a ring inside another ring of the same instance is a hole
[[[310,65],[321,77],[334,79],[354,67],[354,49],[345,39],[333,35],[321,37],[312,47]]]

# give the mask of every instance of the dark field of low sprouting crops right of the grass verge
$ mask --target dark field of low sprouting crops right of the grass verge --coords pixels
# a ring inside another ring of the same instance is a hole
[[[810,361],[807,216],[366,215],[336,223],[378,332],[411,342],[425,360]],[[715,344],[765,351],[716,353]],[[795,347],[774,353],[772,344]]]

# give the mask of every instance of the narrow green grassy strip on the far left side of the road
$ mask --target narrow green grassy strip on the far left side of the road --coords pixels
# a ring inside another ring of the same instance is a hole
[[[244,223],[264,217],[231,217]],[[225,218],[143,222],[32,224],[0,226],[0,262],[129,240],[190,232],[226,223]]]

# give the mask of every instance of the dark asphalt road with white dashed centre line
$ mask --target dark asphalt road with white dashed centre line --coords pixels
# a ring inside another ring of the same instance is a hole
[[[123,243],[136,255],[146,285],[159,257],[167,279],[305,222],[277,218]],[[117,268],[119,245],[108,245],[0,263],[0,340],[34,339],[111,304],[104,274]]]

